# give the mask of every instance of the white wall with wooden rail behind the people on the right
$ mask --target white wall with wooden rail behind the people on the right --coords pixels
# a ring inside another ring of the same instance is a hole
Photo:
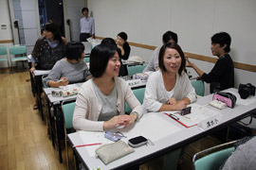
[[[116,39],[125,31],[128,42],[158,46],[162,34],[172,30],[184,51],[211,56],[210,37],[226,31],[232,38],[232,59],[256,64],[255,0],[87,0],[87,5],[95,18],[97,36]],[[132,46],[131,55],[146,61],[152,53]],[[195,63],[207,73],[213,66]],[[235,74],[236,87],[240,82],[256,85],[255,73],[235,69]]]

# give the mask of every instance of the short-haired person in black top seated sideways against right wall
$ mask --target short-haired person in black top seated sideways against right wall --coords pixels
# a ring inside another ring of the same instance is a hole
[[[192,67],[202,80],[210,83],[210,93],[234,87],[234,65],[229,56],[230,43],[231,38],[227,32],[216,33],[211,37],[211,53],[217,56],[218,60],[209,74],[187,59],[186,66]]]

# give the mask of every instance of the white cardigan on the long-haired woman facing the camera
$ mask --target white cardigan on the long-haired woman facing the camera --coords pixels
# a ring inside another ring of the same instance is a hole
[[[176,74],[174,95],[172,97],[176,100],[188,97],[191,103],[196,100],[196,93],[189,76],[185,72],[182,72],[181,76],[178,73]],[[155,112],[161,108],[162,104],[167,104],[168,99],[169,96],[164,87],[162,72],[158,70],[148,78],[143,106],[147,112]]]

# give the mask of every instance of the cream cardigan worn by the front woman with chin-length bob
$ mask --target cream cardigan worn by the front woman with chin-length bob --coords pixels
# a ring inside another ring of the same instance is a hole
[[[73,127],[77,130],[103,131],[103,121],[98,121],[101,112],[101,103],[96,97],[92,79],[82,84],[78,93],[76,108],[73,114]],[[116,88],[118,91],[117,110],[119,114],[125,114],[124,103],[137,111],[139,119],[142,116],[143,108],[130,86],[124,79],[115,77]]]

